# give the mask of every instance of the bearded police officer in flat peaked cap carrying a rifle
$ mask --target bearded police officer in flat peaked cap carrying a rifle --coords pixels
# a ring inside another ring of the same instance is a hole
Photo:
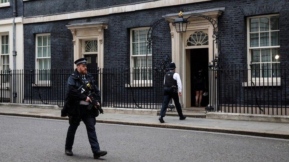
[[[95,117],[99,115],[98,109],[97,107],[89,109],[91,99],[83,93],[83,89],[81,88],[82,85],[88,83],[95,85],[94,78],[87,72],[86,61],[86,58],[80,58],[74,62],[77,68],[74,70],[73,74],[70,75],[67,81],[66,101],[65,106],[61,111],[62,117],[69,117],[70,124],[66,136],[65,154],[68,156],[73,155],[72,145],[74,142],[74,135],[82,120],[86,126],[93,156],[94,158],[99,158],[100,156],[105,156],[107,151],[100,150],[95,132]],[[94,86],[93,90],[97,96],[96,100],[99,105],[101,101],[99,89],[97,86]]]

